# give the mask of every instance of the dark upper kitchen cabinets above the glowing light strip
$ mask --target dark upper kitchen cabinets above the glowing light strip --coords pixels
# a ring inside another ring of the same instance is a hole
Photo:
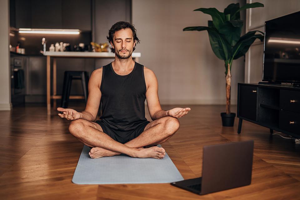
[[[92,30],[91,0],[10,0],[10,26]]]

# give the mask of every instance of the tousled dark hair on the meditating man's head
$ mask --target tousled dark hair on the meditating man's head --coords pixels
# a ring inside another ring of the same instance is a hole
[[[112,42],[113,43],[113,34],[116,31],[125,29],[125,28],[130,28],[132,30],[132,35],[133,35],[133,42],[136,41],[135,43],[135,47],[137,46],[138,43],[140,43],[140,40],[137,37],[137,30],[134,28],[134,26],[129,23],[129,22],[117,22],[115,23],[108,31],[108,36],[106,37],[108,42]],[[133,51],[135,49],[135,47],[133,47]],[[110,48],[112,50],[113,53],[115,53],[115,49],[113,47]]]

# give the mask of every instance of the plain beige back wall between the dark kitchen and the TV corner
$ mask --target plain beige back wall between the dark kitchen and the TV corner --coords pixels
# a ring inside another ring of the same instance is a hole
[[[141,43],[139,63],[158,78],[161,104],[225,104],[224,61],[212,52],[207,31],[184,31],[187,26],[207,26],[211,16],[197,8],[223,12],[230,3],[243,0],[133,0],[132,22]],[[242,19],[245,14],[242,12]],[[244,58],[232,63],[232,104],[237,83],[244,82]]]

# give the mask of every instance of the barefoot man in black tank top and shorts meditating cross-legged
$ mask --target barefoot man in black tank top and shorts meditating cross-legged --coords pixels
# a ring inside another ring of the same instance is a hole
[[[139,39],[128,22],[115,23],[108,33],[115,60],[91,74],[88,102],[83,112],[57,108],[61,118],[72,120],[70,133],[91,147],[91,158],[121,153],[136,158],[158,158],[165,150],[156,146],[178,129],[179,120],[191,108],[164,111],[158,99],[158,81],[150,69],[134,62],[132,53]],[[152,122],[145,118],[145,99]],[[100,101],[101,120],[96,120]],[[145,147],[145,148],[144,148]]]

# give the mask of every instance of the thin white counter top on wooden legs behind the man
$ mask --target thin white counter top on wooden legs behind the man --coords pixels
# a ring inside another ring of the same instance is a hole
[[[50,52],[46,51],[45,56],[52,57],[84,57],[84,58],[115,58],[114,53],[109,52]],[[132,58],[140,58],[141,53],[132,53]]]

